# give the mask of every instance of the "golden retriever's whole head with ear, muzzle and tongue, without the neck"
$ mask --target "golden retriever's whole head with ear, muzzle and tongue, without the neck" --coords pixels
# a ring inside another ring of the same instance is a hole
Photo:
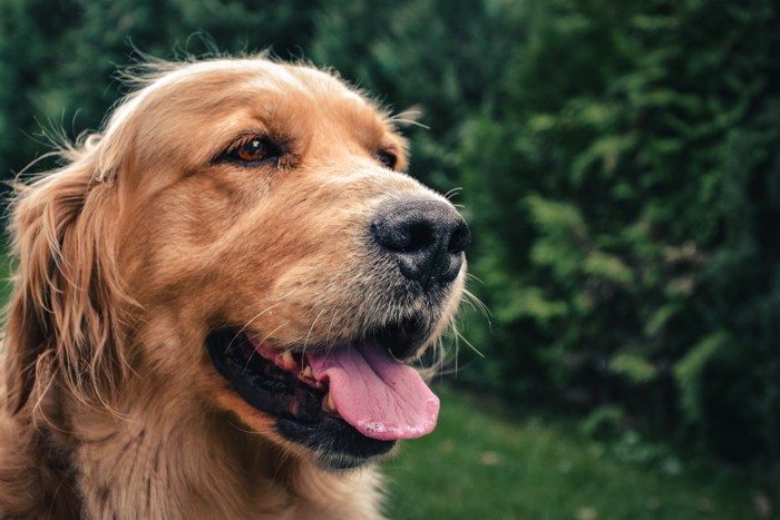
[[[17,408],[48,366],[108,402],[154,380],[332,469],[428,433],[407,362],[454,317],[469,232],[391,118],[265,59],[144,81],[14,204]]]

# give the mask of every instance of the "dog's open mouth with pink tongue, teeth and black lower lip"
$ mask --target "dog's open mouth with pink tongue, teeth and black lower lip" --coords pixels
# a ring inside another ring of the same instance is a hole
[[[223,328],[208,336],[207,346],[217,371],[246,403],[275,418],[281,436],[312,450],[323,467],[345,469],[436,426],[438,398],[392,354],[409,350],[419,335],[415,328],[386,327],[305,353]]]

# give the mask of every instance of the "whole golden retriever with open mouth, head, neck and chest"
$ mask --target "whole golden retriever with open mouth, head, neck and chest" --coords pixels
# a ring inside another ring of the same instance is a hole
[[[0,517],[382,518],[469,228],[393,118],[264,56],[147,63],[19,184]],[[432,350],[431,350],[432,349]]]

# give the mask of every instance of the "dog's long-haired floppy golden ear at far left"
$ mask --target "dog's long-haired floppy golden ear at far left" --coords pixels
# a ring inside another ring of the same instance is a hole
[[[119,351],[125,296],[116,268],[118,200],[87,141],[70,165],[18,186],[11,204],[17,276],[6,332],[14,412],[51,377],[106,404],[125,376]]]

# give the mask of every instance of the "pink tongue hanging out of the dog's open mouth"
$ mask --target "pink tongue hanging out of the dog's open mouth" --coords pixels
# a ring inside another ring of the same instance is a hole
[[[430,433],[439,398],[411,366],[377,345],[361,344],[309,354],[319,381],[330,381],[339,415],[360,433],[390,441]]]

